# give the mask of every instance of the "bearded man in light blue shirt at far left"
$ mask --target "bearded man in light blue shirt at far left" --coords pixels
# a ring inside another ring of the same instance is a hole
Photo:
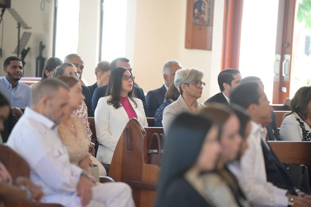
[[[19,81],[23,75],[21,59],[10,56],[3,63],[5,76],[0,79],[0,92],[10,101],[12,108],[32,107],[33,99],[29,86]]]

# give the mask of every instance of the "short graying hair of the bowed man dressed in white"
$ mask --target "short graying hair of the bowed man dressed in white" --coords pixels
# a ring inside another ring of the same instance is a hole
[[[64,88],[69,91],[69,87],[66,83],[58,79],[44,79],[39,84],[38,88],[35,90],[33,98],[34,104],[39,103],[39,101],[48,96],[50,99],[53,99],[57,94],[59,88]]]

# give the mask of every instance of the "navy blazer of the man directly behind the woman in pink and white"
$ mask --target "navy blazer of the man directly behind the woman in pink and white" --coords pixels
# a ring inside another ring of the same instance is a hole
[[[99,100],[101,97],[105,97],[105,96],[106,96],[107,87],[108,87],[108,84],[103,85],[103,86],[100,86],[100,87],[97,87],[97,88],[94,90],[93,97],[92,97],[92,108],[93,108],[93,112],[95,112],[95,109],[96,109],[96,107],[97,107],[98,100]],[[143,106],[144,106],[144,110],[145,110],[146,117],[149,117],[149,116],[148,116],[148,109],[147,109],[147,106],[146,106],[146,97],[145,97],[145,93],[144,93],[144,91],[142,90],[142,88],[139,88],[139,87],[137,87],[137,86],[134,86],[134,95],[135,95],[136,98],[142,100],[142,104],[143,104]]]

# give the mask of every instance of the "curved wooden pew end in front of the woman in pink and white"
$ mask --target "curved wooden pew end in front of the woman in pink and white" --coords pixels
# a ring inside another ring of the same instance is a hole
[[[152,129],[147,130],[153,133]],[[109,176],[116,182],[132,187],[137,207],[153,206],[160,174],[157,165],[148,164],[147,147],[147,132],[137,119],[131,119],[121,134],[109,170]]]

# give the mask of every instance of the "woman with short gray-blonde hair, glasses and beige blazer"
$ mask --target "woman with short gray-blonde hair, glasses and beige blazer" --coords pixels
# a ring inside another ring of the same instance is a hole
[[[162,125],[164,132],[175,116],[183,112],[195,112],[203,104],[197,101],[201,97],[205,83],[202,82],[203,72],[195,68],[180,69],[175,74],[174,85],[180,92],[177,101],[165,107],[163,112]]]

